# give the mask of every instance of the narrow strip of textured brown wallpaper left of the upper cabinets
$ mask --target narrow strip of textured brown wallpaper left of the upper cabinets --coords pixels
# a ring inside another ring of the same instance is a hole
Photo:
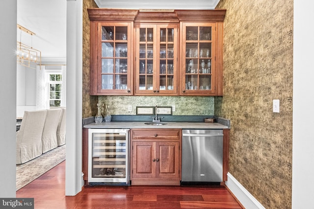
[[[82,117],[96,115],[98,96],[89,95],[89,18],[87,8],[97,8],[94,0],[83,0],[83,92],[82,92]]]

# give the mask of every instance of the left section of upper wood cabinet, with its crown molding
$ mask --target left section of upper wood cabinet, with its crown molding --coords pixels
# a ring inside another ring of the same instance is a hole
[[[133,94],[133,21],[137,10],[88,9],[90,94]]]

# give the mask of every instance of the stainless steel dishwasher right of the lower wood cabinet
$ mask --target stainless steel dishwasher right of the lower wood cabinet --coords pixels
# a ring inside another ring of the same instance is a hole
[[[222,182],[223,131],[182,130],[182,183]]]

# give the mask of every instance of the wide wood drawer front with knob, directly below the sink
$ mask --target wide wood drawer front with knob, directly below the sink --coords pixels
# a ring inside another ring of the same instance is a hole
[[[132,129],[132,139],[180,139],[181,129]]]

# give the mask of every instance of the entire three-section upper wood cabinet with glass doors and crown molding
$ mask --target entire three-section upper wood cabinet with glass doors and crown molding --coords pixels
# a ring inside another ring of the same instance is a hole
[[[222,95],[226,10],[88,9],[91,95]]]

